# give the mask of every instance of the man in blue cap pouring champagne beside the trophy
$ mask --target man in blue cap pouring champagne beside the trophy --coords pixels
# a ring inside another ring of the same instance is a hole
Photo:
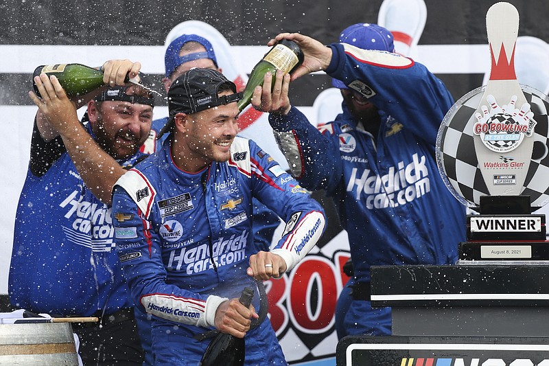
[[[338,307],[346,335],[391,332],[390,308],[372,308],[370,266],[454,264],[465,240],[465,207],[445,187],[435,159],[436,135],[452,96],[423,65],[393,53],[379,25],[351,25],[326,47],[301,34],[279,34],[305,54],[291,76],[324,70],[341,89],[343,113],[318,130],[292,107],[290,76],[267,75],[252,104],[269,122],[292,174],[334,198],[353,259],[352,301]],[[320,153],[319,153],[320,152]]]

